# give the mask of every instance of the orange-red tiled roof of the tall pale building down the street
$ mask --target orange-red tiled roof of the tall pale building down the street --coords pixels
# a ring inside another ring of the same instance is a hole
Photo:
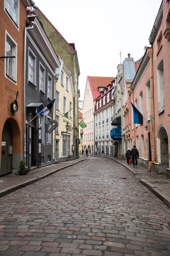
[[[115,77],[87,76],[92,91],[93,99],[100,95],[98,87],[107,87]]]

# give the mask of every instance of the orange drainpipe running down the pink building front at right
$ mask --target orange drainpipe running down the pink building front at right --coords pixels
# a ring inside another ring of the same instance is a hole
[[[148,164],[148,172],[150,172],[151,163],[156,161],[155,159],[155,136],[154,136],[154,127],[155,127],[155,113],[154,113],[154,95],[153,95],[153,48],[147,49],[147,55],[150,58],[150,146],[151,146],[151,155],[152,161]]]

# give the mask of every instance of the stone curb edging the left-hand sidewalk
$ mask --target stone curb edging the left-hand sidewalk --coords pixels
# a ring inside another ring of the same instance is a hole
[[[30,179],[30,180],[28,180],[28,181],[26,181],[26,182],[23,182],[23,183],[21,183],[21,184],[19,184],[19,185],[9,187],[9,189],[0,190],[0,198],[3,197],[4,195],[10,194],[10,193],[12,193],[12,192],[14,192],[14,191],[16,191],[16,190],[18,190],[18,189],[21,189],[21,188],[23,188],[23,187],[29,186],[30,184],[35,183],[35,182],[38,181],[38,180],[42,180],[42,179],[44,179],[45,177],[48,177],[48,176],[50,176],[50,175],[52,175],[52,174],[54,174],[54,173],[56,173],[56,172],[59,172],[59,171],[61,171],[61,170],[63,170],[63,169],[66,169],[66,168],[68,168],[68,167],[70,167],[70,166],[73,166],[73,165],[75,165],[75,164],[77,164],[77,163],[80,163],[80,162],[82,162],[82,161],[84,161],[84,159],[83,159],[83,160],[79,160],[79,161],[76,162],[76,163],[71,163],[71,164],[69,164],[69,165],[67,165],[67,166],[60,167],[60,168],[55,169],[55,170],[53,170],[53,171],[51,171],[51,172],[47,172],[47,173],[44,174],[44,175],[41,175],[41,176],[39,176],[39,177],[37,177],[37,178],[32,178],[32,179]]]

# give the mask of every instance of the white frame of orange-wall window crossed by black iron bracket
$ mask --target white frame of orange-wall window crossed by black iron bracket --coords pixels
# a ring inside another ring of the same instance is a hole
[[[17,85],[17,43],[14,41],[11,35],[6,31],[5,35],[5,55],[6,56],[6,42],[9,42],[12,45],[12,56],[15,56],[15,58],[12,59],[12,77],[10,77],[8,74],[6,74],[6,63],[9,62],[9,59],[5,59],[5,77],[12,81],[15,85]]]

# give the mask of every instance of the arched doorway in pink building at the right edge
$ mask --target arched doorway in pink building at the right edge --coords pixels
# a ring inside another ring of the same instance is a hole
[[[158,163],[164,166],[163,172],[169,167],[168,135],[164,125],[161,125],[158,132]]]

